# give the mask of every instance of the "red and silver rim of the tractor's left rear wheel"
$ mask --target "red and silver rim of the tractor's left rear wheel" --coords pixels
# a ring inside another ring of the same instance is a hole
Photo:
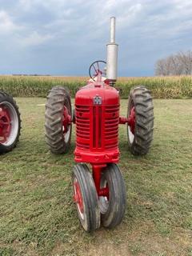
[[[71,118],[70,118],[70,104],[68,101],[65,102],[63,114],[62,114],[62,131],[65,142],[70,140],[70,130],[71,130]]]

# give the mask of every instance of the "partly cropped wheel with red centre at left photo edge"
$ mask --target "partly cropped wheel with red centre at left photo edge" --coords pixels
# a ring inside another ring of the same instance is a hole
[[[21,130],[20,113],[9,94],[0,92],[0,153],[13,150]]]

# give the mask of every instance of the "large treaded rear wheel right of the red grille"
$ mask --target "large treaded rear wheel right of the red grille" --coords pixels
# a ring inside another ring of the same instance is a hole
[[[132,154],[147,154],[153,140],[154,106],[150,90],[139,86],[130,91],[127,137]]]

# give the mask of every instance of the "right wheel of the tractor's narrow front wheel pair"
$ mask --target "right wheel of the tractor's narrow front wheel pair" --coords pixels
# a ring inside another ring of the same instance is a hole
[[[109,164],[102,171],[100,187],[109,191],[107,197],[99,197],[102,225],[113,228],[122,222],[126,210],[126,188],[116,164]]]

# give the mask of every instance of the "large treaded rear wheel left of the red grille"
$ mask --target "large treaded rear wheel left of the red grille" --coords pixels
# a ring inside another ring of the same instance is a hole
[[[50,90],[46,101],[45,128],[46,143],[54,154],[66,153],[71,138],[71,102],[70,94],[62,86]]]

